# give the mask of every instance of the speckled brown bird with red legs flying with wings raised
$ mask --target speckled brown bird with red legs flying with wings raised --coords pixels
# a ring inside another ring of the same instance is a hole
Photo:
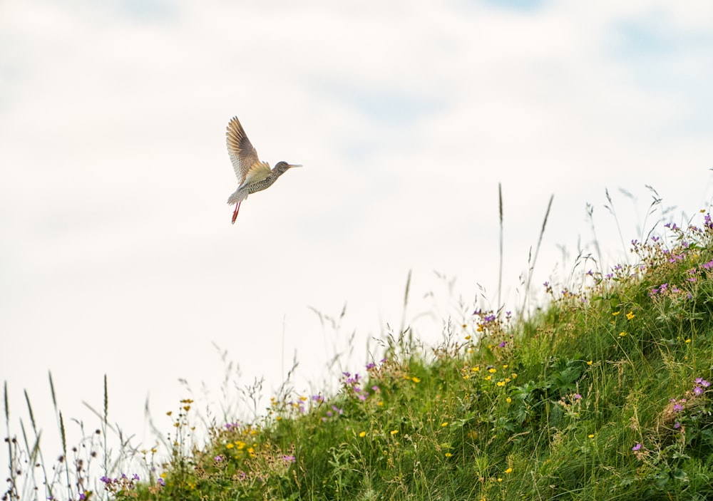
[[[237,211],[240,210],[242,201],[247,199],[247,195],[267,189],[287,170],[292,167],[302,167],[302,165],[277,162],[275,167],[270,170],[270,164],[260,162],[257,151],[252,147],[252,143],[245,135],[245,130],[242,129],[237,117],[231,118],[227,124],[225,142],[238,182],[237,190],[227,199],[228,205],[235,204],[235,210],[232,213],[232,224],[235,224]]]

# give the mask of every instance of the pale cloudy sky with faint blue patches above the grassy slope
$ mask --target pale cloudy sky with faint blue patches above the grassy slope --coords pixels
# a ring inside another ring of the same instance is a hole
[[[709,207],[711,88],[708,0],[1,1],[13,417],[27,388],[54,433],[52,371],[64,414],[91,422],[106,373],[111,417],[148,437],[145,398],[175,408],[178,378],[220,398],[212,343],[268,395],[296,351],[316,391],[352,332],[359,371],[400,326],[409,269],[406,323],[437,341],[459,298],[497,307],[498,182],[507,309],[550,195],[535,289],[593,251],[588,202],[610,266],[605,189],[625,242],[664,207],[679,224]],[[262,160],[304,165],[235,226],[233,115]],[[663,202],[645,223],[646,185]],[[344,304],[339,334],[310,309]]]

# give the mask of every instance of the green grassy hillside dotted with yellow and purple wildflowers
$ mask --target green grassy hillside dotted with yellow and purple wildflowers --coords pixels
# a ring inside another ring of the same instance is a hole
[[[106,477],[105,494],[711,499],[713,224],[705,215],[666,231],[669,245],[632,244],[636,264],[573,290],[545,284],[549,304],[529,319],[476,311],[435,348],[403,332],[344,373],[334,396],[284,390],[252,422],[207,426],[205,443],[193,442],[201,420],[182,401],[165,464],[152,471],[145,452],[143,480]]]

